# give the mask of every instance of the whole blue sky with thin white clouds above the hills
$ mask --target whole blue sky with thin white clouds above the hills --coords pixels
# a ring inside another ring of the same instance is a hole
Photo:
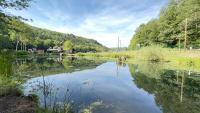
[[[167,0],[34,0],[15,15],[33,19],[29,24],[95,39],[107,47],[120,37],[127,47],[135,29],[157,18]]]

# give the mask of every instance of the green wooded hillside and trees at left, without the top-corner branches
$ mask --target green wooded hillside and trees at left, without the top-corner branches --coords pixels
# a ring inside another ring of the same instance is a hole
[[[0,40],[4,41],[4,46],[0,49],[25,51],[29,48],[37,48],[47,50],[50,47],[61,47],[65,41],[70,41],[75,52],[107,50],[95,40],[32,27],[19,19],[10,19],[9,26],[8,30],[2,33],[2,37],[0,35]]]

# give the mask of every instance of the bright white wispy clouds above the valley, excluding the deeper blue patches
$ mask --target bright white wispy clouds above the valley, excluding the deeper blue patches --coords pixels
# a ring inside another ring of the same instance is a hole
[[[127,47],[135,29],[140,24],[146,23],[152,18],[156,18],[163,5],[146,6],[148,8],[141,9],[136,6],[137,10],[135,10],[135,7],[122,8],[125,3],[112,5],[112,7],[110,7],[113,2],[115,1],[110,0],[104,2],[106,7],[95,14],[88,13],[84,17],[72,18],[67,12],[60,9],[59,4],[56,4],[57,2],[54,4],[54,1],[50,0],[50,4],[53,8],[51,11],[35,6],[40,14],[48,18],[48,20],[36,19],[32,23],[29,22],[29,24],[95,39],[107,47],[116,47],[117,37],[119,36],[120,40],[122,40],[122,46]],[[141,7],[143,7],[146,2],[147,0],[144,1]],[[133,2],[129,4],[131,3]],[[69,6],[67,5],[66,7]],[[72,24],[78,19],[81,19],[81,21],[79,21],[77,25]]]

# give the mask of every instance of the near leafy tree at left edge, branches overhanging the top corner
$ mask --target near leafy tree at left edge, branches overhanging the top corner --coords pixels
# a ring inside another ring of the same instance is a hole
[[[6,49],[12,48],[11,41],[19,39],[19,37],[18,38],[15,37],[15,39],[13,40],[14,32],[11,33],[12,36],[11,36],[11,39],[9,39],[10,38],[10,30],[13,29],[13,25],[15,25],[10,22],[12,22],[13,20],[22,19],[22,17],[16,17],[14,15],[6,14],[4,10],[7,8],[13,8],[15,10],[25,9],[29,6],[30,1],[32,1],[32,0],[0,0],[0,29],[1,29],[0,30],[0,40],[2,40],[1,42],[4,42],[4,44],[5,43],[7,44],[7,46],[4,46],[3,48],[6,48]],[[17,42],[16,45],[18,46],[19,41],[16,41],[16,42]],[[1,49],[3,49],[3,48],[1,48]]]

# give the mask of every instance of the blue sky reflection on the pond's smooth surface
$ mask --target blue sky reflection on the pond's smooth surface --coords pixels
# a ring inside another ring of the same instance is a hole
[[[128,66],[117,69],[114,62],[105,63],[95,69],[46,76],[44,80],[46,85],[51,84],[52,96],[56,95],[57,102],[62,103],[65,95],[71,95],[70,100],[73,100],[75,106],[87,106],[92,102],[102,100],[108,112],[161,112],[155,103],[154,96],[134,84]],[[38,88],[39,83],[43,86],[43,77],[28,80],[24,85],[26,86],[25,94]],[[66,94],[67,89],[69,91]],[[41,105],[44,106],[43,90],[36,91],[36,94],[39,96]],[[47,105],[53,101],[52,96],[46,98]]]

